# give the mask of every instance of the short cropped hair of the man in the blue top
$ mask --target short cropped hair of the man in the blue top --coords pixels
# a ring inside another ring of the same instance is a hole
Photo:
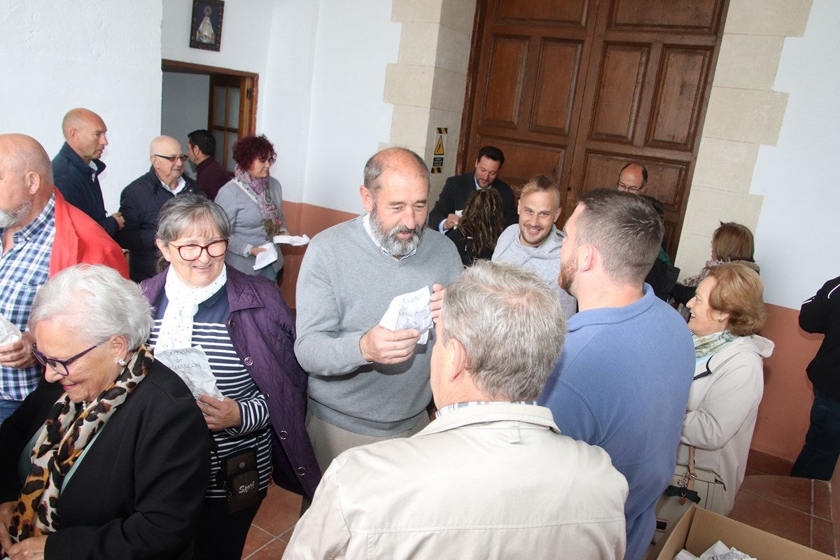
[[[615,189],[586,191],[578,199],[575,243],[591,244],[601,253],[613,281],[641,286],[654,265],[664,226],[642,197]]]

